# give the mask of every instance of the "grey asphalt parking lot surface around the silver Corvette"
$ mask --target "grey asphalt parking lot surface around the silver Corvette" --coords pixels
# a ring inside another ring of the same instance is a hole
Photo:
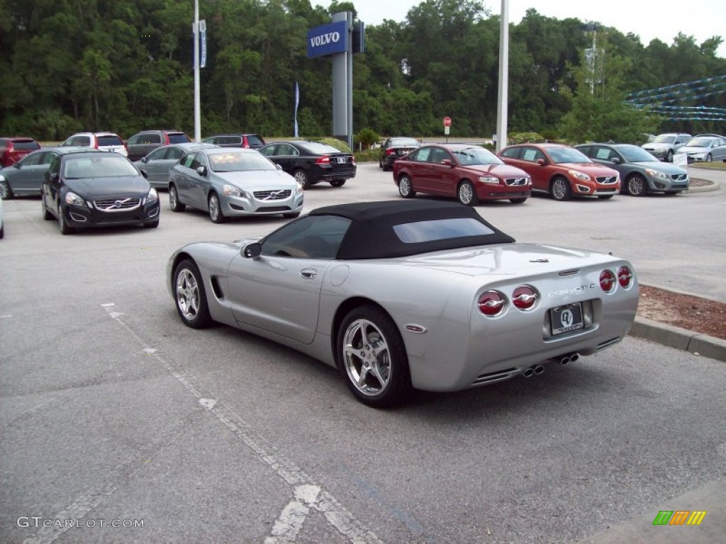
[[[724,363],[628,338],[542,376],[375,411],[322,363],[183,326],[171,252],[285,220],[216,225],[161,197],[158,229],[72,236],[39,199],[5,202],[1,541],[575,543],[635,520],[644,541],[706,542],[724,527],[718,493],[687,495],[723,489]],[[391,173],[366,164],[306,191],[306,210],[394,198]],[[725,200],[477,209],[518,241],[613,252],[640,281],[726,301]],[[653,527],[666,507],[708,514]]]

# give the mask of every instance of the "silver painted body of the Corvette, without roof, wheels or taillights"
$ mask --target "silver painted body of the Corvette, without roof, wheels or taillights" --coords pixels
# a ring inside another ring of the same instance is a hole
[[[191,257],[214,321],[330,366],[340,308],[353,299],[374,302],[401,331],[412,384],[420,390],[462,390],[570,353],[592,355],[623,339],[637,310],[635,279],[628,289],[616,282],[610,293],[599,283],[606,268],[616,274],[632,265],[595,252],[514,243],[376,260],[241,257],[254,241],[197,242],[177,250],[167,266],[171,296],[175,263]],[[531,310],[509,302],[496,318],[479,312],[482,293],[496,289],[511,301],[523,284],[540,295]],[[550,310],[577,302],[584,328],[552,336]]]

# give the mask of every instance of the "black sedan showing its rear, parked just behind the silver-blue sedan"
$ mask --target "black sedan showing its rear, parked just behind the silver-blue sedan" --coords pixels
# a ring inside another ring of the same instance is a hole
[[[278,141],[262,147],[259,152],[298,180],[303,189],[321,181],[340,187],[356,176],[356,159],[352,153],[317,141]]]

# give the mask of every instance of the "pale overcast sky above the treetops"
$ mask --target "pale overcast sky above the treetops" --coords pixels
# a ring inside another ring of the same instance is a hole
[[[378,25],[384,19],[401,22],[422,0],[351,0],[358,18],[366,25]],[[492,15],[499,15],[501,0],[484,0]],[[311,4],[327,7],[330,0],[311,0]],[[509,20],[519,22],[527,9],[540,15],[584,21],[597,21],[617,28],[621,33],[640,36],[647,46],[658,38],[667,45],[679,32],[695,36],[701,44],[711,36],[726,38],[726,0],[509,0]],[[719,57],[726,57],[726,44],[721,44]]]

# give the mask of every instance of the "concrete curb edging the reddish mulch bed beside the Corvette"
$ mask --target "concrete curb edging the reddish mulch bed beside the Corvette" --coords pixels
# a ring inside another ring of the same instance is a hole
[[[726,340],[708,334],[681,329],[640,316],[635,316],[635,322],[628,334],[726,363]]]

